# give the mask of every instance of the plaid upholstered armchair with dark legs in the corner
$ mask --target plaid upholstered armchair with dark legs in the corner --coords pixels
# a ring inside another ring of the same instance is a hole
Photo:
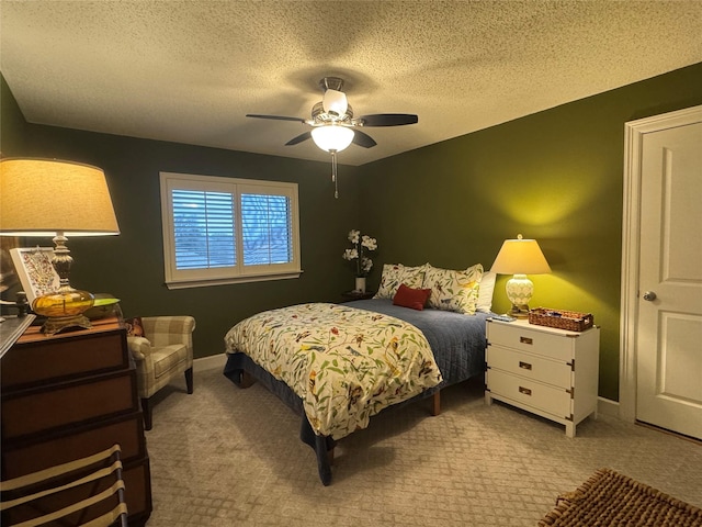
[[[131,330],[127,345],[136,362],[144,428],[151,429],[151,396],[181,373],[188,393],[193,393],[192,316],[143,316],[140,328]],[[129,323],[129,321],[127,321]],[[135,324],[135,326],[137,326]]]

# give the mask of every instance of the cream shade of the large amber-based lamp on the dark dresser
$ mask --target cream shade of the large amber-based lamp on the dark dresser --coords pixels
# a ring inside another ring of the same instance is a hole
[[[48,159],[0,160],[0,234],[120,234],[103,171]]]

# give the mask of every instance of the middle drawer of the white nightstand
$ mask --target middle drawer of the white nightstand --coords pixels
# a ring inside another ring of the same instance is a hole
[[[573,385],[573,369],[570,365],[555,361],[510,348],[502,348],[490,344],[486,350],[489,368],[503,370],[530,380],[555,384],[570,389]]]

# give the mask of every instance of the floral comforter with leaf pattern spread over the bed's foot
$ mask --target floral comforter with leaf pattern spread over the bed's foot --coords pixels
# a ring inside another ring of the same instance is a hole
[[[370,417],[442,380],[414,325],[346,305],[310,303],[265,311],[225,336],[303,401],[316,434],[340,439]]]

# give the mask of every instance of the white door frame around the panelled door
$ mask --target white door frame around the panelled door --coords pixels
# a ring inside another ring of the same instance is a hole
[[[641,255],[642,156],[646,134],[694,123],[702,105],[624,123],[624,209],[622,217],[622,289],[620,314],[619,416],[636,421],[636,328]]]

